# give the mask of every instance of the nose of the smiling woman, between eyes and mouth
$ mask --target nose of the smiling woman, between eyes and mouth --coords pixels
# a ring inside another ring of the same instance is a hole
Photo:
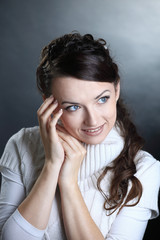
[[[98,114],[93,109],[86,109],[84,124],[88,127],[97,127],[98,123]]]

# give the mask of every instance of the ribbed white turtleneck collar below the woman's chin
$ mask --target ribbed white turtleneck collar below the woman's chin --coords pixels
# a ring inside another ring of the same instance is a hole
[[[95,176],[111,163],[122,151],[124,140],[120,136],[120,130],[113,127],[103,142],[96,145],[85,144],[87,150],[78,176],[78,182]]]

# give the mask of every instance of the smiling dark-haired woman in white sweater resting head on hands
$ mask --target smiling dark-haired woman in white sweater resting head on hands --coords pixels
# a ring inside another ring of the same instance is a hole
[[[140,240],[158,215],[160,163],[141,150],[105,45],[73,33],[43,49],[40,127],[1,158],[3,240]]]

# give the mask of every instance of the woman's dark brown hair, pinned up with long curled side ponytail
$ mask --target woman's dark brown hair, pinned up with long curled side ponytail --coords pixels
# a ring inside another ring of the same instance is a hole
[[[110,82],[115,86],[120,80],[118,66],[113,62],[105,40],[95,40],[91,34],[82,36],[79,33],[57,38],[42,51],[41,62],[37,68],[37,86],[40,92],[49,97],[53,79],[60,76]],[[142,185],[134,176],[136,173],[134,159],[143,146],[143,140],[138,135],[121,97],[117,102],[116,125],[124,138],[124,148],[112,162],[112,166],[105,168],[97,182],[99,191],[105,197],[104,208],[113,211],[126,206],[132,199],[137,199],[133,204],[136,205],[142,195]],[[113,172],[109,197],[100,186],[108,171]],[[127,195],[129,182],[132,183],[132,187]],[[110,207],[107,207],[107,204]]]

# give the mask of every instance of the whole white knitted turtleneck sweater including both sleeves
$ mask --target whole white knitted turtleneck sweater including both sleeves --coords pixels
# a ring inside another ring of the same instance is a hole
[[[105,239],[140,240],[143,238],[148,219],[158,215],[159,161],[144,151],[137,154],[135,176],[142,183],[143,194],[136,206],[124,207],[119,215],[117,215],[118,210],[110,216],[106,215],[103,208],[104,198],[97,189],[97,179],[102,170],[119,155],[123,145],[123,138],[116,128],[111,130],[101,144],[85,145],[87,155],[79,171],[78,184],[90,215]],[[38,127],[22,129],[8,141],[0,160],[2,173],[0,195],[0,233],[1,231],[2,233],[0,235],[3,236],[2,240],[13,240],[13,235],[16,240],[66,239],[58,189],[46,230],[36,229],[16,210],[30,192],[43,164],[44,150]],[[107,174],[102,180],[101,187],[105,193],[108,192],[110,178],[110,174]],[[131,201],[133,202],[134,200]]]

